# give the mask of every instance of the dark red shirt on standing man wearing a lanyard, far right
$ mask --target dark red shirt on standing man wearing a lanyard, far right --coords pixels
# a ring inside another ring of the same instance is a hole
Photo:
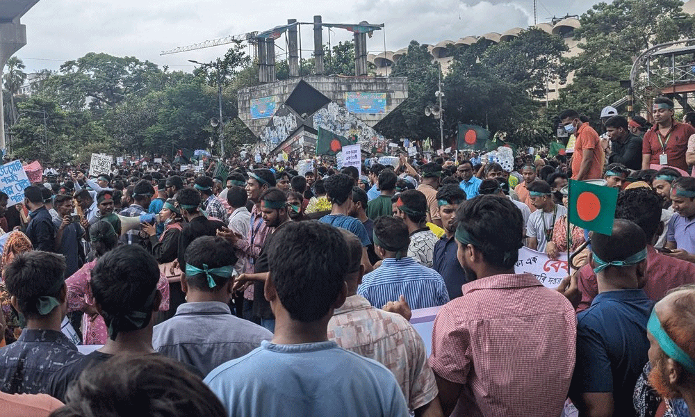
[[[651,155],[651,159],[649,160],[650,164],[664,165],[659,161],[659,155],[662,154],[663,148],[661,142],[659,142],[659,135],[657,135],[658,129],[659,125],[655,124],[647,133],[644,133],[644,139],[642,140],[642,155]],[[669,136],[669,134],[671,136]],[[688,170],[688,164],[685,162],[685,152],[688,149],[688,139],[693,134],[695,134],[695,128],[693,126],[673,120],[671,130],[669,130],[666,136],[661,138],[664,145],[666,145],[666,155],[668,158],[668,163],[665,165],[677,167],[684,171]],[[668,142],[666,140],[667,138],[669,139]]]

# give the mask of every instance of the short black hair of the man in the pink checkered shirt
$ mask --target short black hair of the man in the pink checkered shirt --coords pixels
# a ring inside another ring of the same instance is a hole
[[[524,223],[521,210],[507,197],[479,195],[466,200],[456,211],[456,218],[458,227],[479,243],[474,246],[486,263],[498,268],[514,267],[523,246]]]

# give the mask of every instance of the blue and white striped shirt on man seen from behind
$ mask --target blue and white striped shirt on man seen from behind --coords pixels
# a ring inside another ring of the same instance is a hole
[[[357,293],[377,309],[389,301],[398,301],[400,295],[405,296],[410,308],[414,310],[449,302],[449,294],[441,275],[409,257],[384,259],[379,268],[363,277]]]

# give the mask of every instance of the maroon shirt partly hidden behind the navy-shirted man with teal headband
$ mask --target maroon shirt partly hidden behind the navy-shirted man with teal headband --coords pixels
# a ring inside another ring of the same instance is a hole
[[[670,289],[694,283],[695,263],[660,254],[653,246],[647,246],[646,283],[642,289],[650,300],[659,301]],[[582,291],[582,301],[577,308],[579,312],[588,309],[598,295],[596,274],[588,263],[579,270],[577,284]]]

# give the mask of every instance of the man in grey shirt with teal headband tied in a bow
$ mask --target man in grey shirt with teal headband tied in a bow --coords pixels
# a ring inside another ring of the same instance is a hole
[[[202,375],[272,338],[263,327],[231,314],[227,303],[236,276],[233,253],[231,243],[215,236],[201,236],[188,245],[188,263],[181,275],[186,303],[154,327],[152,347]]]

